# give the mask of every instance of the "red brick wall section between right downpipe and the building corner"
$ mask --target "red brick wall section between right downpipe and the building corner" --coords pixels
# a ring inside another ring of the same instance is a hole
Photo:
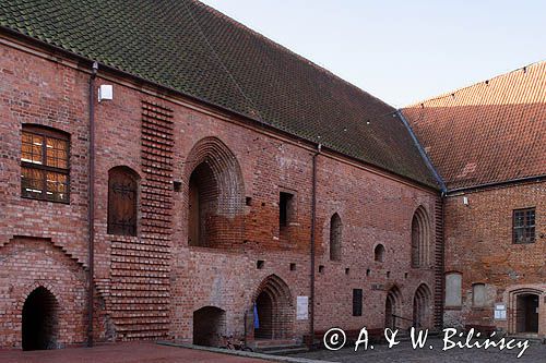
[[[411,319],[418,286],[435,289],[434,264],[411,267],[412,218],[423,206],[434,228],[436,196],[324,157],[318,168],[317,265],[324,266],[324,273],[317,276],[317,329],[382,328],[387,293],[393,286],[402,294],[400,314]],[[329,255],[334,213],[343,223],[340,262],[331,262]],[[375,261],[378,244],[385,249],[382,263]],[[353,289],[364,289],[363,316],[353,316]]]

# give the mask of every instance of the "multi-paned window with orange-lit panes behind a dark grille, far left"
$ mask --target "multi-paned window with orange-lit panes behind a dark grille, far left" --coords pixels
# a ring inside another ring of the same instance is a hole
[[[23,125],[21,196],[70,202],[70,136],[39,125]]]

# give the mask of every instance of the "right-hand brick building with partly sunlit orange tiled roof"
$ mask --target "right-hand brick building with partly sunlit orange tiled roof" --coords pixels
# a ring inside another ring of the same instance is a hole
[[[546,336],[546,62],[407,107],[448,189],[444,324]]]

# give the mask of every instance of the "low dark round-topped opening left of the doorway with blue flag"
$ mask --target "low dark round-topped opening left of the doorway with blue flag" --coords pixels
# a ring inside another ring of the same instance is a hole
[[[226,312],[215,306],[204,306],[193,312],[193,343],[219,347],[226,326]]]

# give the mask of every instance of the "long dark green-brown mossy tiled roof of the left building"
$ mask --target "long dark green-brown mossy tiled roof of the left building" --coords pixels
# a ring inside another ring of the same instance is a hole
[[[193,0],[3,0],[0,25],[437,187],[395,109]]]

